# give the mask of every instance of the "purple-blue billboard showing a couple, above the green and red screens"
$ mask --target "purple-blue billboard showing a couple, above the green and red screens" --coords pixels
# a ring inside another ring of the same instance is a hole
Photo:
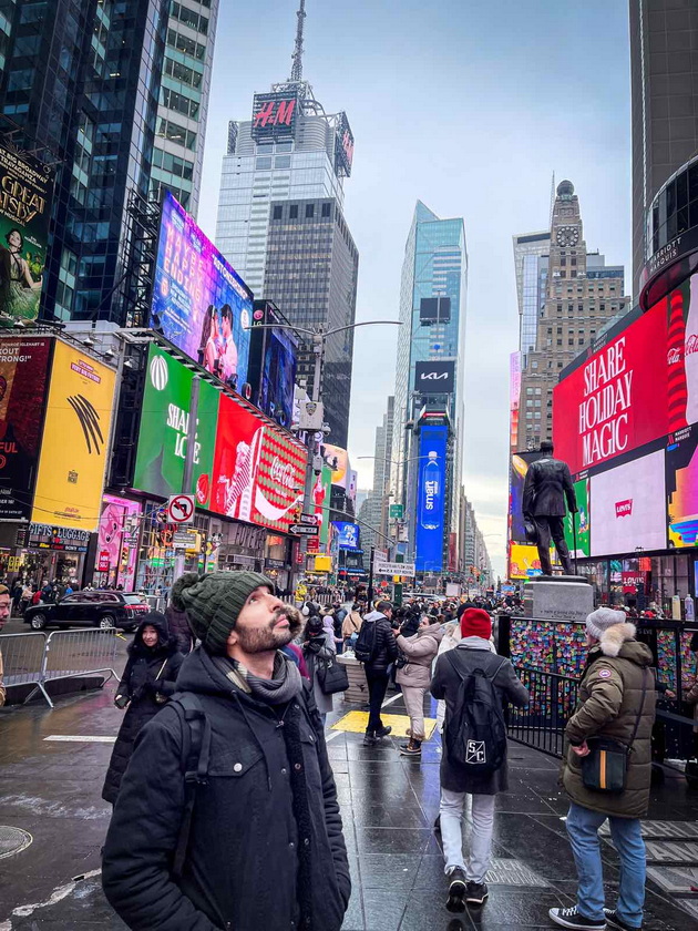
[[[151,326],[239,392],[248,380],[252,305],[247,285],[167,192]]]

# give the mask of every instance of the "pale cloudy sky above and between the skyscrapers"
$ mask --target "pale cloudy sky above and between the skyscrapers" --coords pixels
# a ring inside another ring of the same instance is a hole
[[[215,238],[228,120],[290,73],[297,0],[220,0],[198,222]],[[304,78],[356,140],[345,216],[359,249],[357,320],[397,319],[417,200],[462,216],[469,253],[463,484],[504,575],[509,358],[519,347],[512,236],[550,228],[569,178],[589,250],[630,287],[627,0],[307,0]],[[349,454],[370,488],[393,392],[397,327],[356,331]]]

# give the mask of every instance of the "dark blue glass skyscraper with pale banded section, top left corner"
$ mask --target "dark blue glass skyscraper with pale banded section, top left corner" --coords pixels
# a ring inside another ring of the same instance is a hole
[[[47,318],[123,324],[115,293],[131,194],[147,198],[164,184],[195,205],[216,2],[37,0],[3,10],[0,132],[57,165]]]

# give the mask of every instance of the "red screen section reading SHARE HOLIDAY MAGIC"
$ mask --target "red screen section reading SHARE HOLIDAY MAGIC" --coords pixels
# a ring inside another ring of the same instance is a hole
[[[555,458],[574,475],[666,436],[673,360],[664,300],[555,386]]]

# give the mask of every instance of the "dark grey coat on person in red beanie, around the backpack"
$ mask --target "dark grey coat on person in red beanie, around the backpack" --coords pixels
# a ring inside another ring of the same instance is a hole
[[[509,702],[517,708],[524,708],[528,704],[528,690],[521,684],[509,659],[503,659],[496,653],[491,653],[489,643],[480,637],[468,637],[469,642],[480,641],[481,647],[472,648],[460,643],[454,649],[442,653],[437,659],[434,676],[431,681],[430,690],[434,698],[445,698],[445,728],[453,717],[460,718],[461,707],[459,696],[461,690],[461,677],[452,666],[450,657],[458,663],[460,672],[466,676],[474,669],[481,668],[485,675],[491,676],[500,664],[500,671],[492,682],[497,703],[502,708]],[[494,773],[472,776],[461,767],[454,767],[449,761],[446,741],[443,740],[443,755],[441,757],[441,786],[452,792],[474,792],[476,795],[496,795],[509,788],[509,774],[506,769],[506,755],[504,763]]]

